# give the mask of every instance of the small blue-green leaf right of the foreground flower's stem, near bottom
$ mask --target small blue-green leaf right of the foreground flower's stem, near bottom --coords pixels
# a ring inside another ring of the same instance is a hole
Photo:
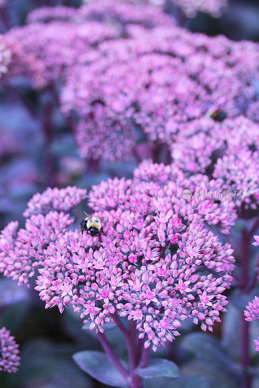
[[[173,361],[154,358],[146,368],[137,368],[136,373],[144,379],[155,377],[179,377],[179,368]]]

